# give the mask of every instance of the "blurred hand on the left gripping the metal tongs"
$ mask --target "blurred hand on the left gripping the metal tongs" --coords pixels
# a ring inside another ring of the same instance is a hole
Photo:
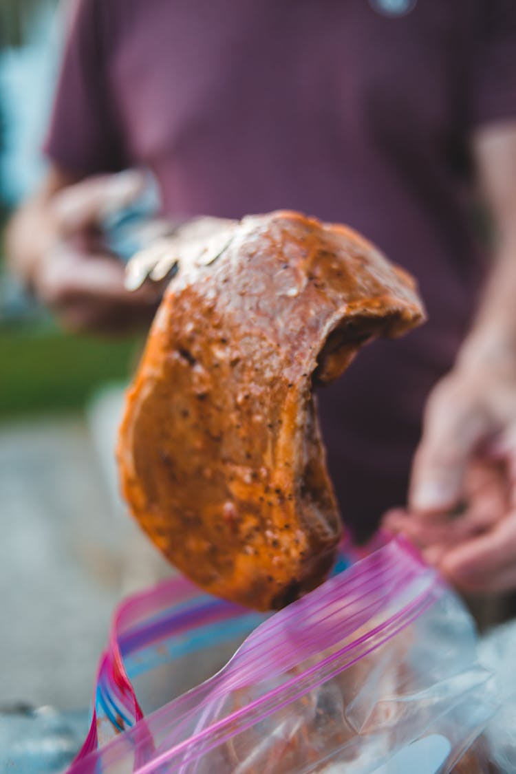
[[[148,324],[161,289],[129,293],[125,267],[103,245],[105,214],[131,204],[145,185],[137,171],[89,177],[48,201],[50,238],[32,266],[31,285],[69,330],[118,333]]]

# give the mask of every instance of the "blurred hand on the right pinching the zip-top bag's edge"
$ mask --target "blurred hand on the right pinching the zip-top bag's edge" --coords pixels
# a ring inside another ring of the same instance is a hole
[[[432,392],[408,510],[384,518],[461,591],[516,588],[516,365],[458,365]]]

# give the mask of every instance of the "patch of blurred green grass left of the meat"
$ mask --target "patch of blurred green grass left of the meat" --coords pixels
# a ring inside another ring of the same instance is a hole
[[[0,327],[0,417],[81,409],[105,382],[128,378],[141,339],[103,341],[53,326]]]

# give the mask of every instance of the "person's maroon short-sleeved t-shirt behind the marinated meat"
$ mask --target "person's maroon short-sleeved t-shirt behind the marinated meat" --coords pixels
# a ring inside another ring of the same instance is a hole
[[[173,216],[292,208],[350,224],[417,279],[429,322],[319,395],[343,519],[405,501],[429,389],[481,261],[468,138],[516,117],[514,0],[79,0],[46,152],[143,164]]]

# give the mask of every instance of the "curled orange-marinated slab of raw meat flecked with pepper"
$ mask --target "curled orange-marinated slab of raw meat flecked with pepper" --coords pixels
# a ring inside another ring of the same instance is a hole
[[[183,264],[118,442],[123,494],[162,553],[260,610],[320,584],[341,522],[313,389],[423,317],[412,278],[374,245],[295,212],[245,217],[219,255]]]

